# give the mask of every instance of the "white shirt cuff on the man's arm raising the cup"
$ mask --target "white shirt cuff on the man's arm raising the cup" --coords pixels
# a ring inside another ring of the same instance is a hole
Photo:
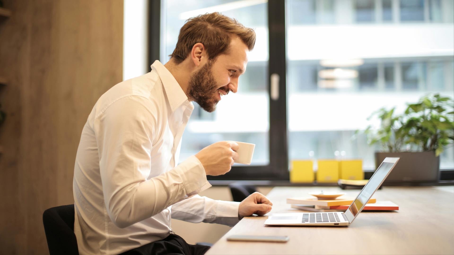
[[[186,189],[186,197],[189,198],[197,195],[199,192],[211,187],[207,181],[205,168],[196,156],[188,157],[176,167],[178,174],[183,179],[183,184]]]

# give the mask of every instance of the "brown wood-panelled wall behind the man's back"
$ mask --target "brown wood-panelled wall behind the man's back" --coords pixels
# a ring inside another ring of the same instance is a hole
[[[47,254],[42,213],[74,203],[80,133],[122,80],[123,0],[4,0],[0,255]],[[1,86],[1,85],[0,85]]]

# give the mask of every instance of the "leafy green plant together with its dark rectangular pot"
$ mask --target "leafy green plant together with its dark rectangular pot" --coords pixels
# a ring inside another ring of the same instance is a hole
[[[370,125],[365,133],[369,145],[382,147],[375,152],[376,167],[385,157],[400,157],[386,182],[439,180],[439,155],[454,142],[453,99],[427,95],[402,114],[381,108],[372,117],[379,118],[380,126]]]

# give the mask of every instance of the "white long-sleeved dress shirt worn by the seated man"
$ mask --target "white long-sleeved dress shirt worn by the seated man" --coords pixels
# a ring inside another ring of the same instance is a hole
[[[74,233],[80,254],[119,254],[166,238],[171,217],[233,226],[237,202],[209,188],[195,156],[179,164],[194,106],[155,61],[148,74],[118,83],[94,105],[74,165]]]

